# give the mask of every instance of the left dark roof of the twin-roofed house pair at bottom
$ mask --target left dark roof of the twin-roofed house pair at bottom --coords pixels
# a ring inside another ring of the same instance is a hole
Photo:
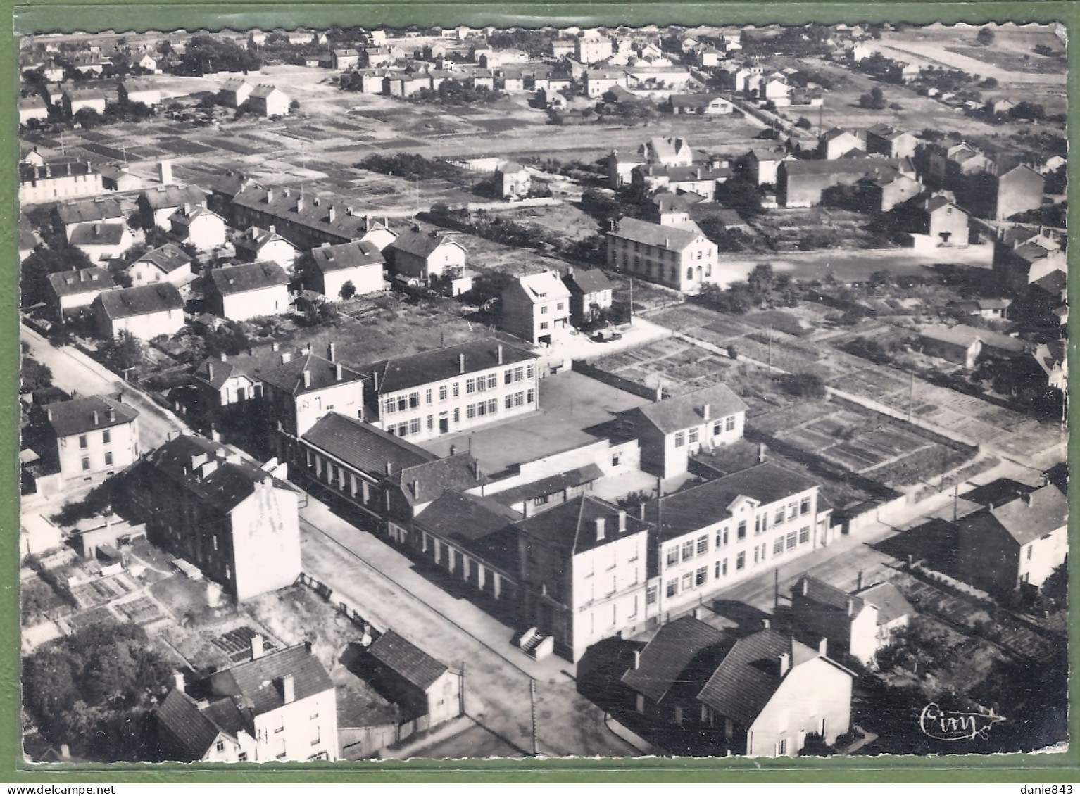
[[[676,619],[660,628],[642,650],[637,669],[626,670],[622,682],[653,703],[676,685],[700,689],[713,673],[725,642],[731,640],[727,633],[700,619]]]

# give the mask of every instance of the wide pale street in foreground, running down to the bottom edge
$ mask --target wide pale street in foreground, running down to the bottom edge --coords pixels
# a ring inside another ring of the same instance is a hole
[[[409,558],[318,500],[309,499],[301,517],[303,569],[334,589],[332,601],[348,602],[450,666],[465,661],[465,712],[478,729],[426,754],[531,754],[530,678],[537,680],[542,754],[634,754],[604,725],[603,712],[577,692],[570,663],[524,656],[511,645],[512,628],[447,593]]]

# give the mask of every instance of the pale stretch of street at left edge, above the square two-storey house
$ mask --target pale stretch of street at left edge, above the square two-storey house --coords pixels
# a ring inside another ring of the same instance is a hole
[[[53,383],[65,392],[96,395],[118,391],[120,378],[81,351],[70,346],[57,348],[25,324],[21,327],[19,337],[30,347],[29,355],[53,372]],[[124,388],[124,403],[139,412],[139,444],[143,450],[158,447],[170,433],[175,434],[187,428],[173,413],[158,406],[131,386]]]

